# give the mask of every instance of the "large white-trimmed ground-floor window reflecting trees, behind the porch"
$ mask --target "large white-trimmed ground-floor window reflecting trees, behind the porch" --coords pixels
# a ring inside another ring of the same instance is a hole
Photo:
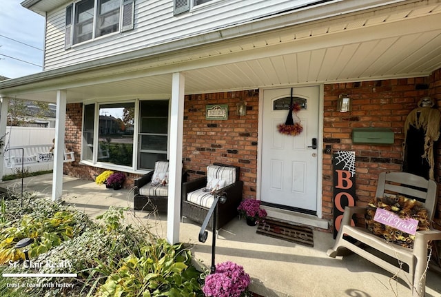
[[[107,169],[152,170],[167,160],[168,122],[168,100],[84,105],[81,160]]]

